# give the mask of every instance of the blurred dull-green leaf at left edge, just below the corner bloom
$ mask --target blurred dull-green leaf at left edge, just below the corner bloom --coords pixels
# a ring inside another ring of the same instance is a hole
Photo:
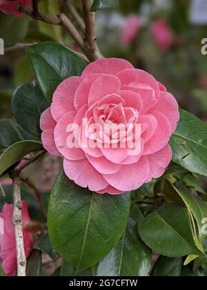
[[[14,46],[26,37],[29,17],[13,17],[0,12],[0,36],[5,46]]]

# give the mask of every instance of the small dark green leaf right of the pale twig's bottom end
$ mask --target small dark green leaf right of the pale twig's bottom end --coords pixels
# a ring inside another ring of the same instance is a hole
[[[26,276],[42,276],[41,251],[33,250],[27,261]]]

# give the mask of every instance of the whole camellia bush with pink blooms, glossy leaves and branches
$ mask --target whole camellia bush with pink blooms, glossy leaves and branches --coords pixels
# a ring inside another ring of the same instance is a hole
[[[206,123],[101,54],[95,13],[117,0],[74,2],[0,1],[5,50],[26,49],[0,120],[1,276],[41,276],[46,258],[50,276],[207,276]],[[140,29],[130,17],[124,45]],[[151,33],[172,46],[166,20]],[[30,178],[46,156],[60,169],[48,195]]]

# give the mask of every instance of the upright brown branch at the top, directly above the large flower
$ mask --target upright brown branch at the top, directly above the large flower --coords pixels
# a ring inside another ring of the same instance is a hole
[[[101,53],[97,46],[96,25],[95,25],[95,12],[90,12],[92,0],[82,0],[83,3],[83,16],[86,25],[86,46],[92,53],[94,60],[101,58]]]

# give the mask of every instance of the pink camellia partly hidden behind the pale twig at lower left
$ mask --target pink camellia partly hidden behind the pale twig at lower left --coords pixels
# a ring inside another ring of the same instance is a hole
[[[27,202],[23,201],[22,205],[22,222],[24,228],[24,226],[26,226],[26,224],[30,222],[31,219],[28,212]],[[0,234],[0,258],[3,260],[2,267],[3,271],[6,273],[6,276],[15,276],[17,273],[17,251],[14,226],[12,224],[13,209],[13,204],[4,204],[0,213],[0,219],[3,220],[3,233],[1,231]],[[33,230],[23,229],[23,242],[26,258],[28,258],[34,243]]]

